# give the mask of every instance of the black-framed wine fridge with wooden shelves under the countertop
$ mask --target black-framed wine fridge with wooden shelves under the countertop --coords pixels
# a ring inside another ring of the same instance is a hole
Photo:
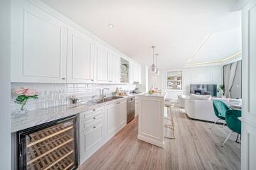
[[[75,115],[18,132],[18,169],[77,169],[76,124]]]

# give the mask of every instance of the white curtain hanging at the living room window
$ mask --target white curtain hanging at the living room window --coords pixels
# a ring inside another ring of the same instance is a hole
[[[233,62],[224,67],[225,96],[228,96],[228,98],[231,97],[230,90],[233,86],[237,64],[238,62]]]

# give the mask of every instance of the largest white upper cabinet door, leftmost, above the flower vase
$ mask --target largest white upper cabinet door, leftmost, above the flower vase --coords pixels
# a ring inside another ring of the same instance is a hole
[[[11,81],[65,83],[65,24],[25,1],[11,9]]]

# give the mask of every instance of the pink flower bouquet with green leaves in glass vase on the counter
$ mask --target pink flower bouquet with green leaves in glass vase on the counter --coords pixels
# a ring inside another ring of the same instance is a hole
[[[18,95],[16,97],[16,103],[21,105],[21,111],[23,111],[24,106],[26,105],[26,102],[28,101],[28,99],[30,98],[38,99],[39,92],[36,91],[35,89],[22,87],[21,89],[16,89],[14,91],[14,94]]]

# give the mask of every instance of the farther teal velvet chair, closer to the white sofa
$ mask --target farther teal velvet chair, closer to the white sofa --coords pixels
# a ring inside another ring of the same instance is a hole
[[[230,109],[223,101],[220,100],[214,100],[213,101],[213,109],[214,113],[217,116],[217,120],[215,123],[210,127],[210,129],[213,129],[213,126],[218,123],[218,120],[225,120],[225,114]],[[225,123],[223,123],[223,126]]]

